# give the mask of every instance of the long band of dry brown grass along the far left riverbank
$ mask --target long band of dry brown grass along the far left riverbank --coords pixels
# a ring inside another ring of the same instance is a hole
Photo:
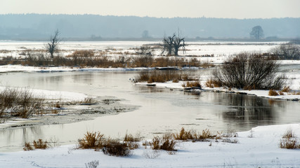
[[[143,48],[143,46],[141,47]],[[152,50],[152,49],[151,49]],[[152,57],[148,50],[139,52],[123,52],[112,49],[95,52],[93,50],[75,50],[67,56],[57,55],[48,57],[45,50],[25,50],[24,57],[2,57],[0,64],[23,64],[29,66],[79,66],[79,67],[164,67],[164,66],[196,66],[200,67],[197,59],[178,57]],[[113,57],[111,56],[113,55]]]

